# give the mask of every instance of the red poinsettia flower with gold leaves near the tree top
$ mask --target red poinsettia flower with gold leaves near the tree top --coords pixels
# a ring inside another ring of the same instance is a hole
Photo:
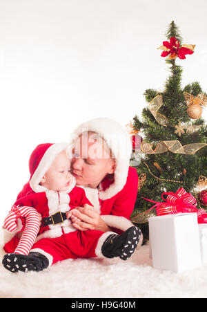
[[[170,37],[170,42],[163,42],[163,46],[159,46],[161,50],[164,50],[161,53],[162,57],[168,57],[168,59],[175,59],[179,57],[180,59],[185,59],[186,54],[193,54],[195,45],[193,44],[183,44],[181,47],[179,46],[179,40],[175,37]]]

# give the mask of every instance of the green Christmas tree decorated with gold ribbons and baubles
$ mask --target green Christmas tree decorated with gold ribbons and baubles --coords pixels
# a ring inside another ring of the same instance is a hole
[[[137,201],[132,213],[135,223],[148,221],[148,214],[137,215],[152,207],[153,204],[145,199],[160,202],[163,192],[176,192],[179,187],[195,196],[197,208],[207,205],[204,193],[207,192],[207,126],[201,118],[207,97],[199,82],[182,88],[182,68],[176,64],[178,58],[191,57],[195,46],[181,43],[174,21],[170,23],[166,37],[168,41],[159,49],[163,50],[161,57],[166,57],[170,76],[163,92],[145,91],[148,107],[142,111],[142,120],[135,116],[132,123],[133,131],[143,137],[141,162],[137,166]],[[198,186],[204,189],[202,196],[197,191]]]

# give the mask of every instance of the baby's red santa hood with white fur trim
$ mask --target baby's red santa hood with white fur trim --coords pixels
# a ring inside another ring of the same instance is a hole
[[[41,179],[50,168],[57,154],[66,151],[68,143],[43,143],[38,145],[32,152],[29,160],[30,187],[36,193],[46,191],[46,187],[40,185]],[[66,192],[75,186],[75,178]]]

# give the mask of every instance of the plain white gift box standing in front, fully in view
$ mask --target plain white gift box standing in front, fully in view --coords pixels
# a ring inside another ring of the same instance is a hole
[[[183,272],[201,266],[196,213],[151,217],[149,235],[154,268]]]

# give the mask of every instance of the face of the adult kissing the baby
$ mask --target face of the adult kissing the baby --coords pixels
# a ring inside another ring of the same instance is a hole
[[[111,158],[106,143],[96,134],[81,134],[72,150],[71,170],[77,185],[95,188],[108,174],[115,172],[115,159]]]

